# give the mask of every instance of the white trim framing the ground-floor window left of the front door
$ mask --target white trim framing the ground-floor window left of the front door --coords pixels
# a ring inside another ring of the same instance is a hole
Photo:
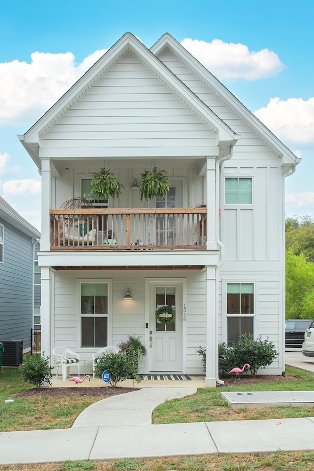
[[[112,279],[111,278],[78,278],[77,279],[77,300],[78,300],[78,305],[77,305],[77,312],[78,312],[78,323],[77,323],[77,339],[78,339],[78,351],[90,351],[94,352],[99,350],[100,347],[82,347],[81,346],[81,312],[80,312],[80,292],[81,292],[81,285],[82,284],[107,284],[107,296],[108,296],[108,309],[107,309],[107,314],[105,314],[105,317],[107,317],[107,344],[112,345],[112,303],[113,303],[113,298],[112,298]],[[86,314],[83,314],[86,316]],[[88,314],[87,314],[88,315]],[[95,317],[95,314],[91,315],[92,317]],[[101,317],[100,314],[96,314],[96,316]]]

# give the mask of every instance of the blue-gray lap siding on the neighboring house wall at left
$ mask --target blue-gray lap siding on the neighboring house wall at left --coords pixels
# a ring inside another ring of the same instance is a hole
[[[4,226],[4,262],[0,264],[0,340],[23,340],[30,348],[33,302],[32,240],[0,219]]]

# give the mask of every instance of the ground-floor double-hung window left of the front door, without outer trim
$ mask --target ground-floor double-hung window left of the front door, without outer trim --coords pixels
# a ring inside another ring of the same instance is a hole
[[[80,346],[105,347],[108,342],[108,284],[82,282],[80,298]]]

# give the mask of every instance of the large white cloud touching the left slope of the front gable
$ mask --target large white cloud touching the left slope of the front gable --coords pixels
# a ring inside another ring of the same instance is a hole
[[[98,60],[95,51],[75,63],[71,52],[33,52],[31,63],[0,63],[0,125],[33,123]]]

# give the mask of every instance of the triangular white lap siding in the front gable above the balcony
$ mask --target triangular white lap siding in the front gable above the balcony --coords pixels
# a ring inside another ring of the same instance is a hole
[[[42,146],[50,148],[214,145],[216,136],[209,128],[131,53],[42,138]]]

